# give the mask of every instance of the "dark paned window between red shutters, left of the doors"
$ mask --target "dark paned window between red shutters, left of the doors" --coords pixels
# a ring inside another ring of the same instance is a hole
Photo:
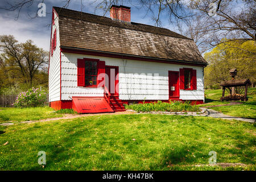
[[[85,86],[97,86],[97,61],[85,61]]]

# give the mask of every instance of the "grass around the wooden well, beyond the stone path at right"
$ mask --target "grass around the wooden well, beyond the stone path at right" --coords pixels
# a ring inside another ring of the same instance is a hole
[[[207,95],[207,98],[205,98],[205,104],[199,106],[224,105],[230,103],[220,101],[220,97],[222,95],[222,90],[220,89],[205,90],[205,94]],[[256,118],[256,88],[249,88],[247,97],[247,102],[237,101],[241,102],[241,105],[210,107],[210,109],[221,111],[224,114],[236,117]]]

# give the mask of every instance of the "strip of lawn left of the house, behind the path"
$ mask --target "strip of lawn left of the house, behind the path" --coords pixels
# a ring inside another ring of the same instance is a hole
[[[0,108],[0,123],[10,121],[34,121],[46,118],[62,117],[51,107]]]

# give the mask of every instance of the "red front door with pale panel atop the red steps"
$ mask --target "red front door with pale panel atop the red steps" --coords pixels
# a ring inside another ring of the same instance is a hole
[[[118,96],[118,67],[106,66],[105,84],[112,96]]]

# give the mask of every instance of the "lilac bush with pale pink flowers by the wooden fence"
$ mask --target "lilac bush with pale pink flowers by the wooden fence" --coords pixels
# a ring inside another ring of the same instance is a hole
[[[36,107],[43,105],[46,99],[46,92],[39,88],[32,88],[26,92],[19,93],[14,102],[14,107]]]

